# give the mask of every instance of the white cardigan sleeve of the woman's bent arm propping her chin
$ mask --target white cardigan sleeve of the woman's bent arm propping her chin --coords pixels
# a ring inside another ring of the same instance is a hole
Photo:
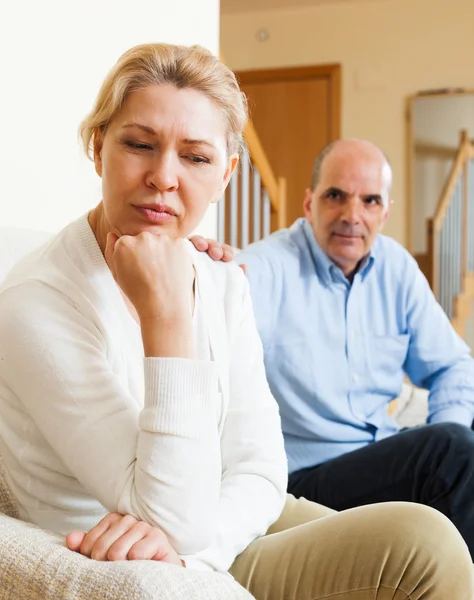
[[[213,539],[221,484],[216,367],[144,359],[140,410],[107,352],[99,326],[58,290],[27,281],[0,295],[0,380],[45,443],[108,511],[198,552]]]

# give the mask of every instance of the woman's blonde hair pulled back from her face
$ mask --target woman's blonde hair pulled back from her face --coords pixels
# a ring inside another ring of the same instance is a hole
[[[228,152],[240,151],[247,100],[234,73],[201,46],[142,44],[118,59],[100,88],[94,108],[79,127],[90,159],[94,156],[96,135],[107,131],[128,94],[155,84],[192,88],[213,100],[226,118]]]

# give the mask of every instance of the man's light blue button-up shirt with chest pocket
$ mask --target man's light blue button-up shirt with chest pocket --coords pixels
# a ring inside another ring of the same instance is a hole
[[[428,422],[474,419],[474,361],[412,256],[379,235],[352,284],[297,220],[237,256],[247,265],[290,472],[398,431],[406,373]],[[264,427],[264,424],[262,424]]]

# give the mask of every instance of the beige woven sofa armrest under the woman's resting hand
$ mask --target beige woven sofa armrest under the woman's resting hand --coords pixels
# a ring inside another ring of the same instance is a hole
[[[230,576],[153,561],[98,562],[0,514],[2,600],[250,600]]]

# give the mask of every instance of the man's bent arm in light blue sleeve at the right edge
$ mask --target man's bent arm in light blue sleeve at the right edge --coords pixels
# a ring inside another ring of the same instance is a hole
[[[474,419],[474,360],[436,301],[424,275],[409,265],[407,326],[410,344],[405,371],[429,390],[428,423],[455,422],[471,427]]]

